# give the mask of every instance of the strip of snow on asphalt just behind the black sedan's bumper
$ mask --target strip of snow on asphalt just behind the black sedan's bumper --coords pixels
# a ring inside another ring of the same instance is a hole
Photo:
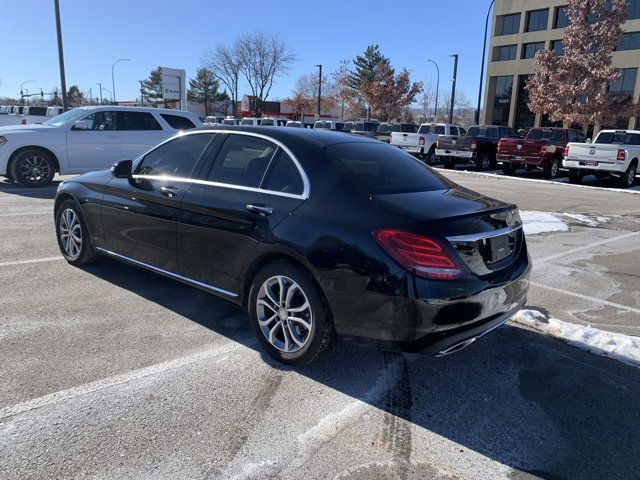
[[[607,332],[547,318],[538,310],[520,310],[512,322],[537,330],[545,335],[567,341],[596,355],[615,358],[640,367],[640,337]]]

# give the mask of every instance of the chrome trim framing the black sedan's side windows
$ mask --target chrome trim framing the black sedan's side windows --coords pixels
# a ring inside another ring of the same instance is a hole
[[[232,184],[232,183],[213,182],[211,180],[200,180],[200,179],[197,179],[197,178],[187,178],[187,177],[169,177],[169,176],[163,176],[163,175],[132,175],[132,177],[133,178],[149,178],[149,179],[152,179],[152,180],[170,180],[170,181],[173,181],[173,182],[197,183],[199,185],[210,185],[210,186],[213,186],[213,187],[231,188],[231,189],[234,189],[234,190],[245,190],[245,191],[248,191],[248,192],[267,193],[269,195],[279,195],[281,197],[297,198],[297,199],[300,199],[300,200],[306,200],[307,198],[309,198],[310,189],[311,189],[310,184],[309,184],[309,177],[307,177],[307,174],[304,171],[304,169],[302,168],[302,165],[298,161],[297,157],[293,154],[293,152],[284,143],[282,143],[279,140],[276,140],[273,137],[270,137],[268,135],[263,135],[261,133],[232,131],[232,130],[220,130],[220,129],[210,129],[210,128],[200,129],[200,130],[197,130],[197,131],[180,132],[178,135],[175,135],[175,136],[173,136],[171,138],[168,138],[167,140],[163,141],[162,143],[156,145],[151,150],[145,152],[143,155],[138,157],[135,160],[135,162],[137,163],[137,162],[141,161],[142,159],[144,159],[144,157],[146,157],[153,150],[155,150],[156,148],[159,148],[160,146],[164,145],[165,143],[170,142],[171,140],[173,140],[173,139],[175,139],[177,137],[183,137],[183,136],[186,136],[186,135],[198,135],[198,134],[203,134],[203,133],[246,135],[246,136],[249,136],[249,137],[262,138],[264,140],[267,140],[269,142],[272,142],[272,143],[276,144],[278,147],[280,147],[282,150],[284,150],[287,153],[287,155],[289,155],[289,157],[291,158],[291,160],[295,164],[296,168],[298,169],[298,173],[302,177],[302,185],[303,185],[302,193],[301,194],[284,193],[284,192],[278,192],[278,191],[275,191],[275,190],[267,190],[265,188],[259,188],[259,187],[246,187],[246,186],[243,186],[243,185],[235,185],[235,184]],[[275,152],[274,152],[274,154],[275,154]],[[136,164],[136,168],[137,168],[137,164]],[[265,173],[266,173],[266,171],[265,171]]]

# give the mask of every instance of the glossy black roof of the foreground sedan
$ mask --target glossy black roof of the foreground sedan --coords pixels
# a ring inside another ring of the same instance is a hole
[[[327,130],[314,130],[310,128],[275,128],[275,127],[252,127],[248,125],[220,125],[216,127],[200,127],[190,130],[196,131],[228,131],[228,132],[247,132],[265,135],[274,138],[283,143],[306,141],[313,143],[319,147],[327,147],[338,143],[374,143],[379,144],[377,140],[366,137],[356,137],[348,133],[333,132]]]

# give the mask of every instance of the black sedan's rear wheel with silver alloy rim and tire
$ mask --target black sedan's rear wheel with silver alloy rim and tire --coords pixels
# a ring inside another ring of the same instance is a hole
[[[329,306],[313,278],[288,262],[274,262],[254,277],[249,320],[258,341],[289,365],[314,362],[335,337]]]

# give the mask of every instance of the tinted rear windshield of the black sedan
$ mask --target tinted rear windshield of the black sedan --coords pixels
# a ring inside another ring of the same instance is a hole
[[[428,192],[451,188],[440,175],[385,143],[340,143],[326,149],[329,161],[366,194]]]

